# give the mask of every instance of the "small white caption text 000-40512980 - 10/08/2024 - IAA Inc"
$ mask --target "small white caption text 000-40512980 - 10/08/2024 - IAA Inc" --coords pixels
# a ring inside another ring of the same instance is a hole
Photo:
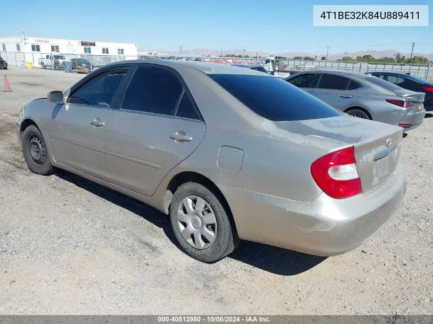
[[[158,322],[208,322],[208,323],[227,323],[227,322],[270,322],[266,316],[158,316]]]

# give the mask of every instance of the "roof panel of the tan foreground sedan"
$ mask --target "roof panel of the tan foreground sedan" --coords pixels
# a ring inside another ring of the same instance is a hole
[[[269,76],[263,72],[255,71],[251,69],[244,69],[228,64],[218,64],[212,62],[198,62],[198,61],[183,61],[183,60],[148,60],[148,59],[140,59],[140,60],[128,60],[128,61],[120,61],[115,63],[107,64],[105,67],[116,66],[124,63],[150,63],[154,65],[161,65],[169,68],[176,69],[181,64],[184,67],[190,67],[191,69],[199,70],[205,74],[249,74],[249,75],[260,75],[260,76]]]

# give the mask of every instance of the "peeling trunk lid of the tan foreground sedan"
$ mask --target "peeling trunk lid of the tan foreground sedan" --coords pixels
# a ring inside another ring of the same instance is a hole
[[[302,121],[276,122],[291,132],[335,140],[335,149],[354,145],[362,193],[382,185],[400,158],[403,128],[349,115]]]

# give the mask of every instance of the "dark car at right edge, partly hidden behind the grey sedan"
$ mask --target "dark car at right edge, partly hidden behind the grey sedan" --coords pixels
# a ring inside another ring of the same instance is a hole
[[[429,82],[408,73],[367,72],[366,74],[377,76],[385,81],[394,83],[403,89],[425,93],[424,109],[426,111],[433,111],[433,82]]]

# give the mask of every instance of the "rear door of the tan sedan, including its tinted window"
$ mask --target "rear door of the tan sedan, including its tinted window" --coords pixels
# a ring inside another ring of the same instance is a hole
[[[180,75],[140,64],[105,133],[109,181],[152,196],[163,177],[201,142],[205,124]]]

